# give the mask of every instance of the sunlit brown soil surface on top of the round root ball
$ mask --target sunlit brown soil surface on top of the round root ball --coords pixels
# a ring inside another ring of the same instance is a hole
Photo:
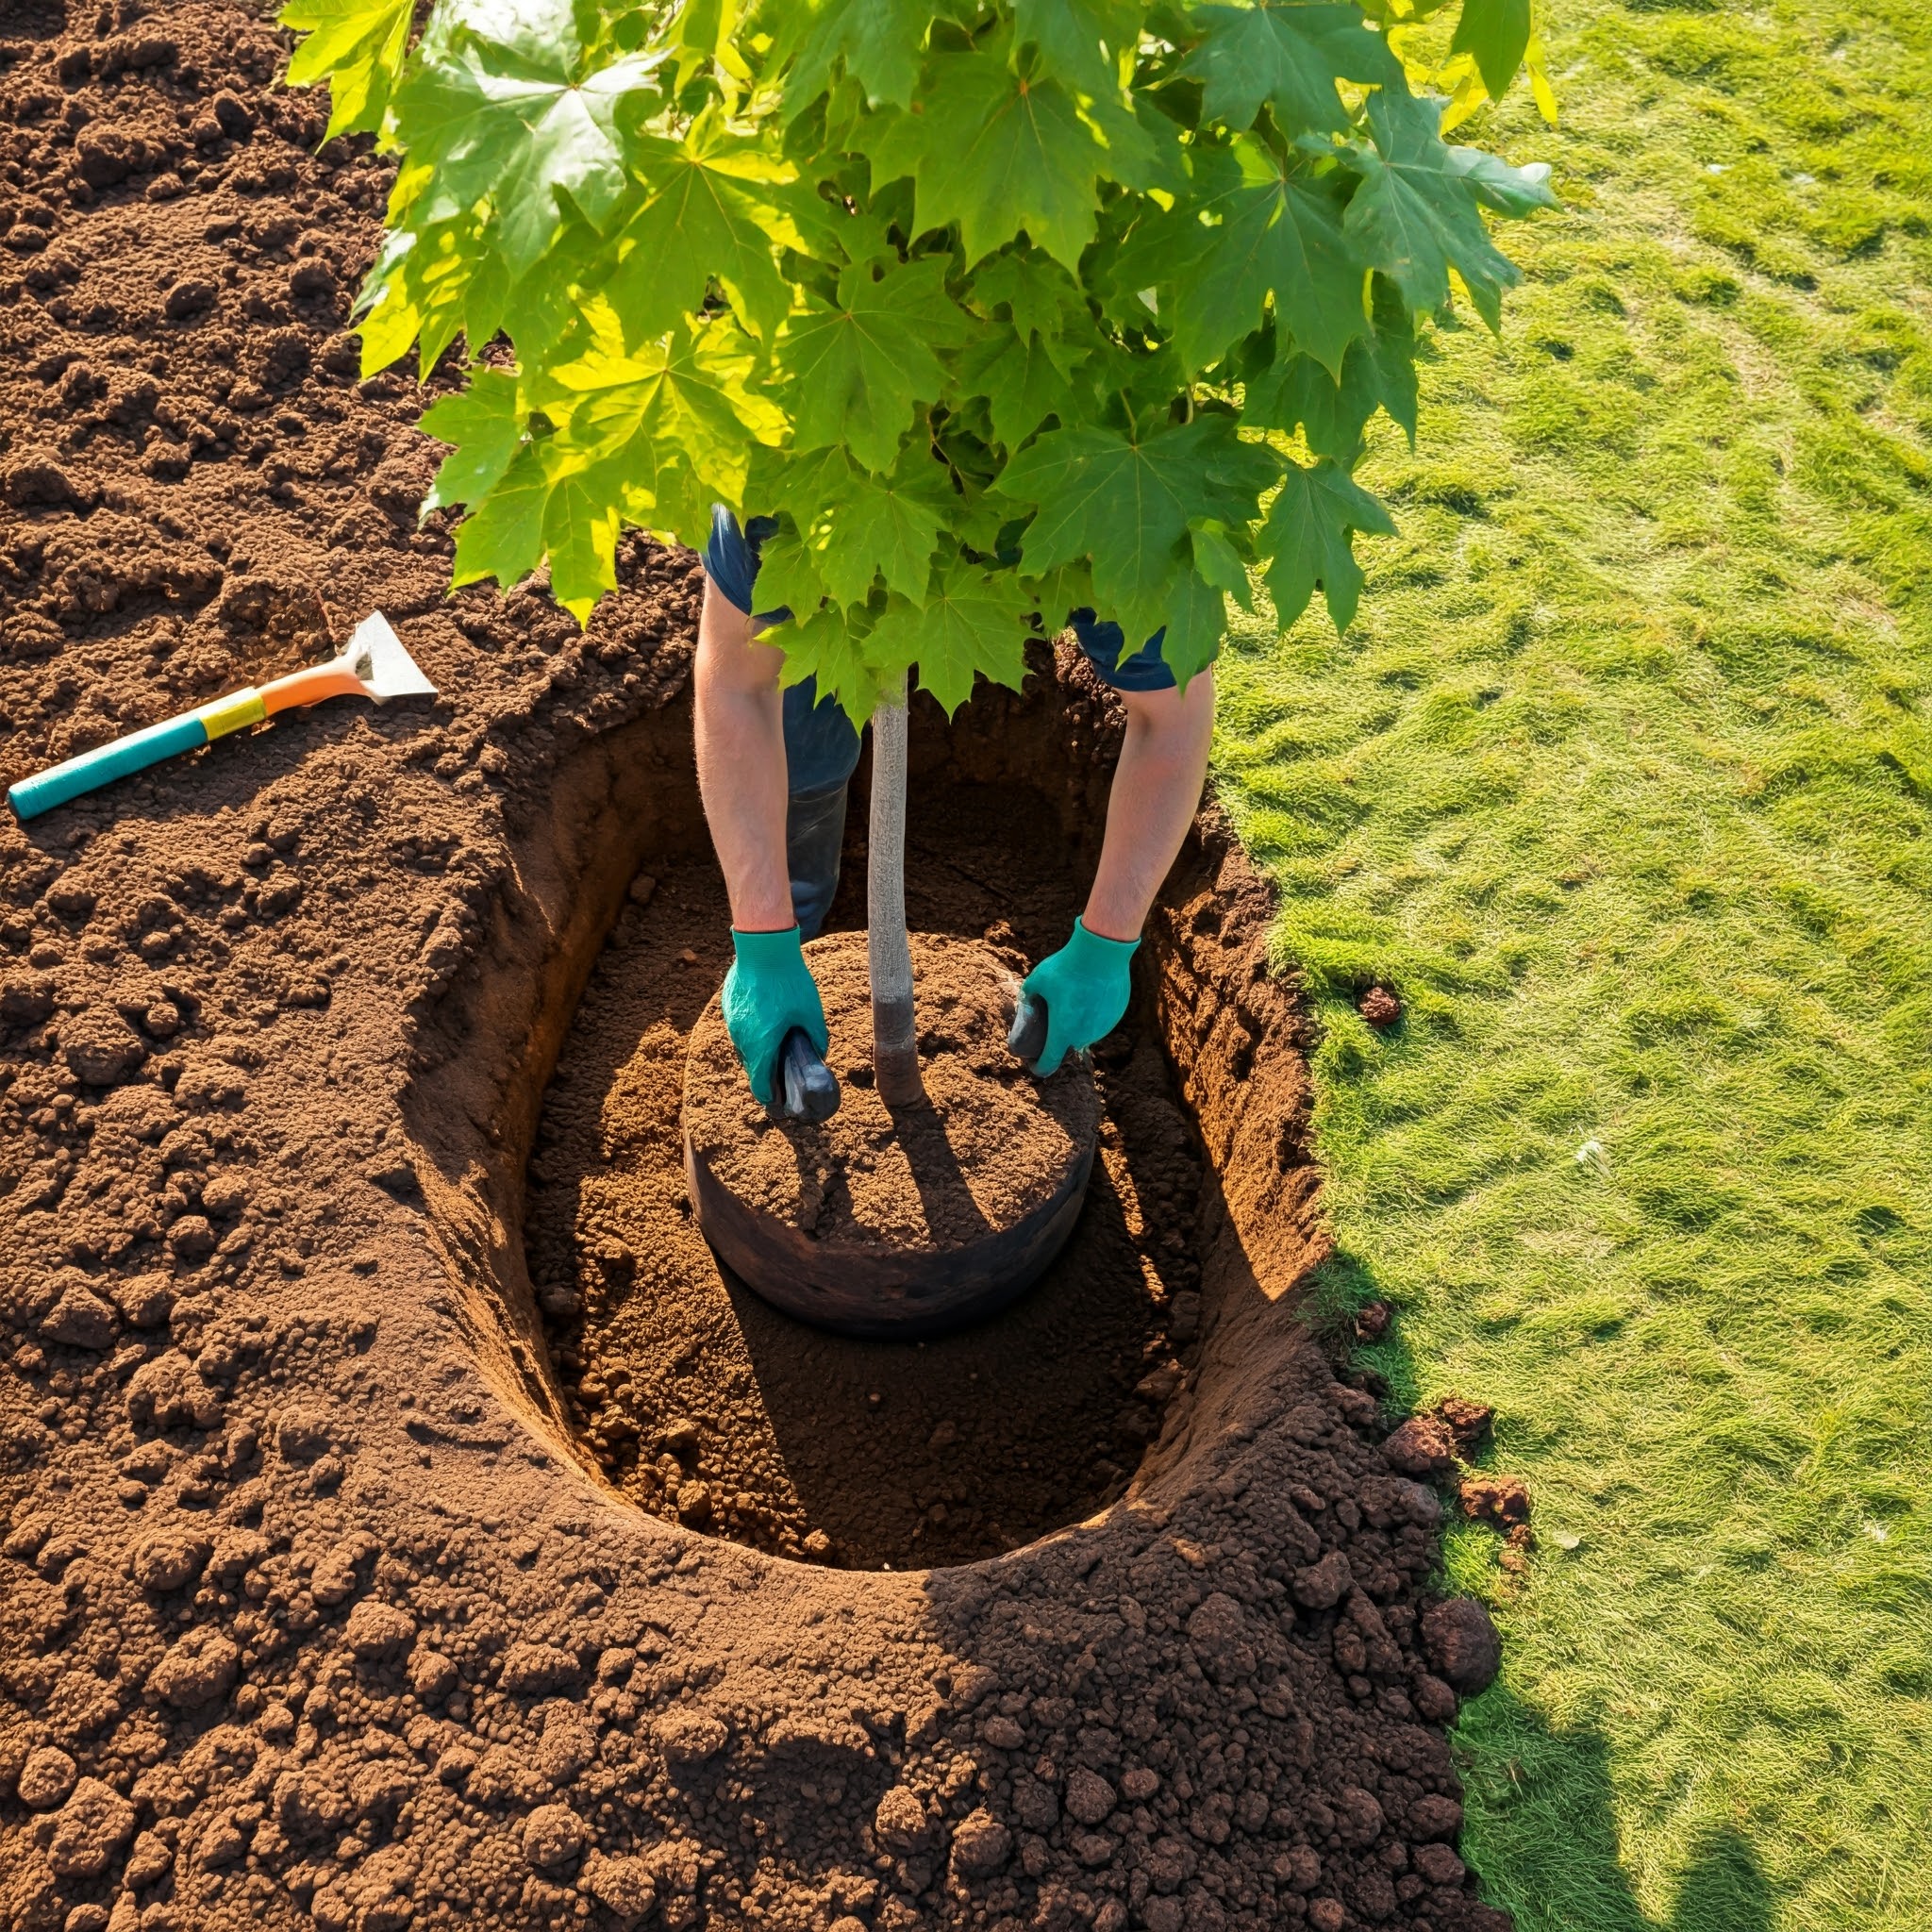
[[[1078,1061],[1034,1080],[1007,1051],[1024,954],[912,935],[929,1105],[898,1115],[871,1084],[866,935],[827,933],[806,958],[825,1001],[827,1065],[844,1082],[831,1121],[775,1121],[738,1072],[717,1007],[692,1032],[684,1126],[740,1202],[821,1244],[896,1256],[1003,1235],[1059,1190],[1099,1109]]]

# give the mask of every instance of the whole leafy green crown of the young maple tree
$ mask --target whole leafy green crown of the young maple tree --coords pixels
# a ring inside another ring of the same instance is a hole
[[[1416,336],[1497,325],[1484,211],[1542,168],[1443,139],[1526,66],[1532,0],[292,0],[290,81],[398,155],[363,365],[462,336],[454,582],[549,562],[578,618],[624,524],[775,516],[784,678],[902,730],[1018,686],[1068,611],[1184,684],[1250,568],[1354,614],[1352,469],[1416,431]],[[1439,25],[1439,23],[1437,23]],[[485,348],[502,338],[508,355]],[[883,709],[881,709],[883,707]],[[877,966],[877,962],[875,962]],[[906,972],[910,1034],[910,966]]]

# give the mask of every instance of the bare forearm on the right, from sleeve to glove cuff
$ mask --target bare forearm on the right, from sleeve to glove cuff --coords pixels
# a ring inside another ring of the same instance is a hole
[[[1080,916],[1101,939],[1138,939],[1188,835],[1213,736],[1213,672],[1180,692],[1126,692],[1126,742],[1107,798],[1107,838]]]

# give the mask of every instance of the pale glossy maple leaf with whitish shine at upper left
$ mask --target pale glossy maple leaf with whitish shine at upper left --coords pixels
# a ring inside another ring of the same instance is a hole
[[[628,95],[651,85],[659,58],[628,54],[574,83],[468,41],[423,66],[398,91],[396,114],[412,128],[412,172],[433,170],[429,218],[460,214],[487,195],[491,238],[512,276],[551,245],[560,197],[605,228],[628,187],[616,116]]]

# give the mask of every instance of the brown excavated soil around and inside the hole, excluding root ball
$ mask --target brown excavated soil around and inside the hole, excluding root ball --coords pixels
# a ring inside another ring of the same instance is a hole
[[[1294,1314],[1265,891],[1204,819],[1009,1345],[867,1381],[707,1281],[694,564],[587,638],[444,601],[342,334],[384,178],[284,54],[0,0],[0,779],[373,607],[444,694],[0,827],[0,1926],[1507,1924],[1441,1729],[1493,1631]],[[922,713],[914,922],[1057,943],[1115,730],[1068,659]]]

